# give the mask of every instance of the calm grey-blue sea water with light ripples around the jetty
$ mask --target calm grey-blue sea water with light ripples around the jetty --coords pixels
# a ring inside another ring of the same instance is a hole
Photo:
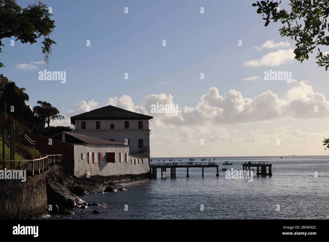
[[[196,161],[200,158],[193,157]],[[207,157],[213,161],[214,157]],[[329,219],[329,156],[215,157],[219,165],[205,168],[176,169],[176,178],[123,182],[128,191],[83,195],[86,202],[100,206],[74,209],[75,215],[52,216],[53,219]],[[160,159],[152,158],[153,162]],[[174,160],[189,158],[176,157]],[[208,161],[208,160],[207,160]],[[233,162],[223,166],[224,161]],[[253,176],[225,179],[221,168],[242,170],[241,163],[268,161],[272,177]],[[151,164],[152,164],[151,163]],[[170,169],[167,169],[167,172]],[[318,177],[315,178],[315,172]],[[128,205],[128,211],[125,211]],[[204,205],[204,211],[200,210]],[[280,211],[277,211],[280,205]],[[97,209],[102,214],[92,214]]]

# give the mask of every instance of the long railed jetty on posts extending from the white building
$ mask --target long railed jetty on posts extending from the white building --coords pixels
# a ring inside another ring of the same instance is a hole
[[[186,176],[189,177],[190,176],[189,168],[196,168],[196,167],[202,168],[202,177],[204,177],[204,168],[205,167],[217,168],[216,176],[219,176],[218,165],[216,165],[215,162],[193,162],[194,164],[189,164],[189,163],[191,163],[191,162],[159,162],[159,163],[157,163],[157,165],[152,165],[150,168],[151,168],[153,178],[157,178],[157,169],[158,168],[161,169],[161,178],[165,178],[167,176],[167,175],[165,175],[165,177],[163,177],[164,172],[165,172],[165,174],[167,174],[167,168],[170,169],[170,177],[173,177],[173,178],[176,177],[176,168],[186,168],[186,170],[187,170]],[[214,164],[209,165],[208,163],[214,163]]]

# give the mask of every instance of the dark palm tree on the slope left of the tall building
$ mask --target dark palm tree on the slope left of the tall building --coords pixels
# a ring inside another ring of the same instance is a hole
[[[46,123],[48,124],[47,132],[49,135],[50,121],[55,120],[65,120],[64,116],[59,115],[60,111],[56,107],[52,107],[51,103],[46,101],[38,101],[37,104],[40,106],[33,107],[33,113],[35,116],[39,118],[43,125],[43,129],[45,129]]]

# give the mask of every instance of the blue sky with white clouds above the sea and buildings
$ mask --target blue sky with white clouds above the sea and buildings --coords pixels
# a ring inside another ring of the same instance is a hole
[[[73,127],[69,117],[86,106],[114,105],[154,117],[151,157],[328,154],[328,72],[315,54],[294,60],[294,40],[278,22],[265,27],[254,1],[42,2],[56,26],[48,67],[42,40],[6,38],[0,73],[26,88],[31,107],[46,100],[61,111],[65,121],[51,125]],[[44,69],[65,71],[65,83],[39,80]],[[291,82],[264,80],[270,69]],[[157,102],[178,115],[151,113]]]

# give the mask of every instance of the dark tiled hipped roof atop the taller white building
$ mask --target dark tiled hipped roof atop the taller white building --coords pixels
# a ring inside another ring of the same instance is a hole
[[[130,120],[150,120],[153,119],[152,116],[139,114],[124,110],[122,108],[117,108],[112,105],[105,106],[102,108],[97,108],[86,113],[78,114],[71,117],[71,124],[75,124],[75,120],[120,120],[120,119],[130,119]]]

